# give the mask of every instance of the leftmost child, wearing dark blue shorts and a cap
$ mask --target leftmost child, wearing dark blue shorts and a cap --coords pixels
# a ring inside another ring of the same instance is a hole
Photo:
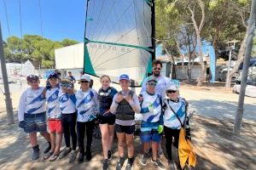
[[[48,142],[48,147],[44,150],[44,154],[51,149],[49,133],[47,133],[46,127],[45,88],[39,87],[38,76],[30,75],[26,77],[26,81],[31,88],[27,88],[20,97],[19,127],[29,134],[33,150],[32,160],[37,160],[39,157],[37,132],[41,133]]]

